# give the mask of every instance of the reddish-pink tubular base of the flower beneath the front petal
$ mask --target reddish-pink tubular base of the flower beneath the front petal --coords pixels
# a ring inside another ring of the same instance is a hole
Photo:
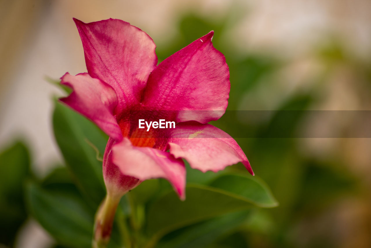
[[[142,181],[136,177],[122,174],[119,167],[112,162],[112,146],[115,144],[114,139],[108,139],[103,156],[103,178],[107,193],[111,196],[121,197],[137,187]]]

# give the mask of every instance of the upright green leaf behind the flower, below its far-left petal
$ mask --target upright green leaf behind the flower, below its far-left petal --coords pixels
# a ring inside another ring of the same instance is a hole
[[[96,146],[101,154],[108,137],[92,122],[56,101],[53,113],[56,141],[76,184],[95,207],[105,195],[102,162],[96,159]]]

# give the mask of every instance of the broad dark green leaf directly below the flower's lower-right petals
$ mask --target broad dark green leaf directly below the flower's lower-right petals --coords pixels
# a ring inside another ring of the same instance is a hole
[[[212,185],[223,187],[227,178],[224,176],[220,178],[215,180]],[[249,178],[243,179],[241,183],[249,183],[249,186],[259,189],[257,187],[259,182],[249,180]],[[233,184],[233,182],[230,183]],[[246,187],[246,185],[240,184],[239,187]],[[225,213],[248,209],[252,206],[273,206],[273,200],[268,201],[266,197],[255,197],[254,194],[249,194],[247,191],[241,192],[243,195],[239,195],[237,192],[232,192],[235,190],[234,188],[224,188],[188,184],[186,187],[187,199],[184,202],[179,200],[174,191],[170,191],[149,207],[147,233],[152,236],[152,240],[155,240],[177,228]],[[262,186],[262,189],[265,190],[266,187]]]

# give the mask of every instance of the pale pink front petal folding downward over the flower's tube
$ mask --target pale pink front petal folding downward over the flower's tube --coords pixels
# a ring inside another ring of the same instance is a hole
[[[175,159],[169,152],[150,147],[132,146],[124,138],[112,146],[113,159],[121,172],[139,180],[165,178],[173,185],[179,197],[185,199],[185,167],[183,160]]]

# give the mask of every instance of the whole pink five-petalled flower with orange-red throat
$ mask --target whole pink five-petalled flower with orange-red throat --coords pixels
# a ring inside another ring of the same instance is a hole
[[[242,162],[242,149],[227,133],[207,124],[228,104],[229,68],[214,48],[213,31],[157,65],[155,44],[122,20],[83,23],[74,19],[88,73],[66,73],[73,89],[61,99],[109,135],[103,172],[107,193],[118,198],[141,181],[166,178],[185,197],[185,167],[203,172]],[[207,111],[205,111],[207,110]],[[145,129],[135,119],[166,119],[175,129]]]

